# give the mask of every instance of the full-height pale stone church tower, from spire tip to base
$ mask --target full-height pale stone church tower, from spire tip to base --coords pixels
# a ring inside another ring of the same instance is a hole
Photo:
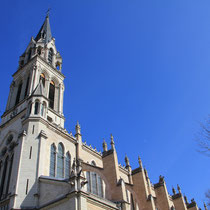
[[[51,33],[49,14],[12,76],[0,123],[0,208],[31,209],[38,206],[39,177],[49,176],[45,167],[50,155],[47,135],[67,135],[62,57]]]

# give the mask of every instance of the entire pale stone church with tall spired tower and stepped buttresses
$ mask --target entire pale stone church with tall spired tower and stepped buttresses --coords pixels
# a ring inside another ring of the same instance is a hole
[[[12,76],[0,124],[0,210],[199,209],[179,186],[170,195],[163,176],[152,184],[140,157],[138,168],[128,157],[120,165],[112,135],[98,152],[82,141],[79,123],[74,135],[67,132],[65,76],[49,15]]]

